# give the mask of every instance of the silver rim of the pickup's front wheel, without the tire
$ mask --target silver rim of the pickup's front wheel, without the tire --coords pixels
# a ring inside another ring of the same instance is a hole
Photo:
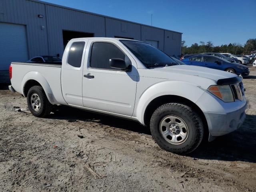
[[[175,115],[164,117],[160,122],[159,129],[163,138],[174,145],[184,143],[189,134],[186,122]]]

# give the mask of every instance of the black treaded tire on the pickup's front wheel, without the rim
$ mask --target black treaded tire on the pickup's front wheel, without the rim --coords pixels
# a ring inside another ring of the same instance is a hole
[[[171,144],[160,133],[160,123],[166,116],[174,115],[182,118],[188,126],[188,136],[181,144]],[[203,122],[200,116],[189,106],[181,103],[168,103],[158,107],[150,120],[150,131],[156,143],[164,150],[188,154],[202,142],[204,135]]]

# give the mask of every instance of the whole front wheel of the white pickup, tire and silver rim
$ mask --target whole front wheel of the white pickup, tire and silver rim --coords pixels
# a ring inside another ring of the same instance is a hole
[[[204,135],[200,116],[191,107],[180,103],[158,107],[151,117],[150,131],[162,149],[179,154],[194,151]]]

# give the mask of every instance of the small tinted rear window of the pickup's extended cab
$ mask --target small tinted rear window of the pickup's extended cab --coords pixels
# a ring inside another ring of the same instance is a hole
[[[85,42],[72,43],[68,54],[68,64],[70,64],[73,67],[81,66],[84,44]]]

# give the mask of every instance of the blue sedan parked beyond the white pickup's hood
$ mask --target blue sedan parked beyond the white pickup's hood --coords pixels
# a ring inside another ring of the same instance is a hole
[[[182,62],[187,65],[208,67],[212,69],[235,73],[238,75],[241,74],[242,76],[247,76],[250,74],[248,67],[242,64],[231,63],[228,60],[211,55],[192,55],[190,57],[182,59]]]

